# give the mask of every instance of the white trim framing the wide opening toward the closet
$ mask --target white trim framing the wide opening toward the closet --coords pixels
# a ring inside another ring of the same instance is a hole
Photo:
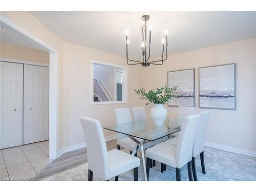
[[[24,28],[13,23],[9,18],[0,14],[0,21],[10,30],[18,31],[32,39],[39,48],[50,53],[49,77],[49,158],[57,157],[57,127],[58,127],[58,51]]]

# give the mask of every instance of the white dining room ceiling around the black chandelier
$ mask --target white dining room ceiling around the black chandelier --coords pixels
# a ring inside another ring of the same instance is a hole
[[[130,57],[141,57],[141,16],[150,15],[152,57],[161,56],[161,39],[168,31],[168,53],[181,53],[256,37],[256,12],[31,12],[61,39],[125,56],[129,31]],[[6,38],[6,37],[4,37]],[[11,40],[9,38],[9,40]],[[16,40],[15,40],[16,41]]]

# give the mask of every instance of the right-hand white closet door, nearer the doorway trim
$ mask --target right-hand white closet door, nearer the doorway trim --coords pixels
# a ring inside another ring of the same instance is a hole
[[[49,138],[49,68],[24,65],[24,144]]]

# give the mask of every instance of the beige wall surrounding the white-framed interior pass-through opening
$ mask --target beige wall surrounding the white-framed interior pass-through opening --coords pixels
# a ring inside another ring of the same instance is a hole
[[[128,103],[90,105],[91,59],[126,66],[125,58],[78,46],[69,42],[63,44],[63,145],[84,142],[79,117],[98,119],[102,126],[115,124],[115,108],[139,105],[134,89],[140,87],[140,66],[128,67]],[[104,131],[105,137],[113,135]]]

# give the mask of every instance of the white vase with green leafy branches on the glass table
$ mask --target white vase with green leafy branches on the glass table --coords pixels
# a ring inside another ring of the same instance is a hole
[[[163,124],[167,116],[167,110],[164,108],[164,104],[172,99],[173,93],[178,90],[177,86],[172,88],[167,87],[157,88],[156,90],[149,90],[146,92],[145,88],[134,90],[135,94],[140,95],[141,100],[148,100],[147,104],[154,103],[154,107],[151,109],[151,117],[155,124]]]

